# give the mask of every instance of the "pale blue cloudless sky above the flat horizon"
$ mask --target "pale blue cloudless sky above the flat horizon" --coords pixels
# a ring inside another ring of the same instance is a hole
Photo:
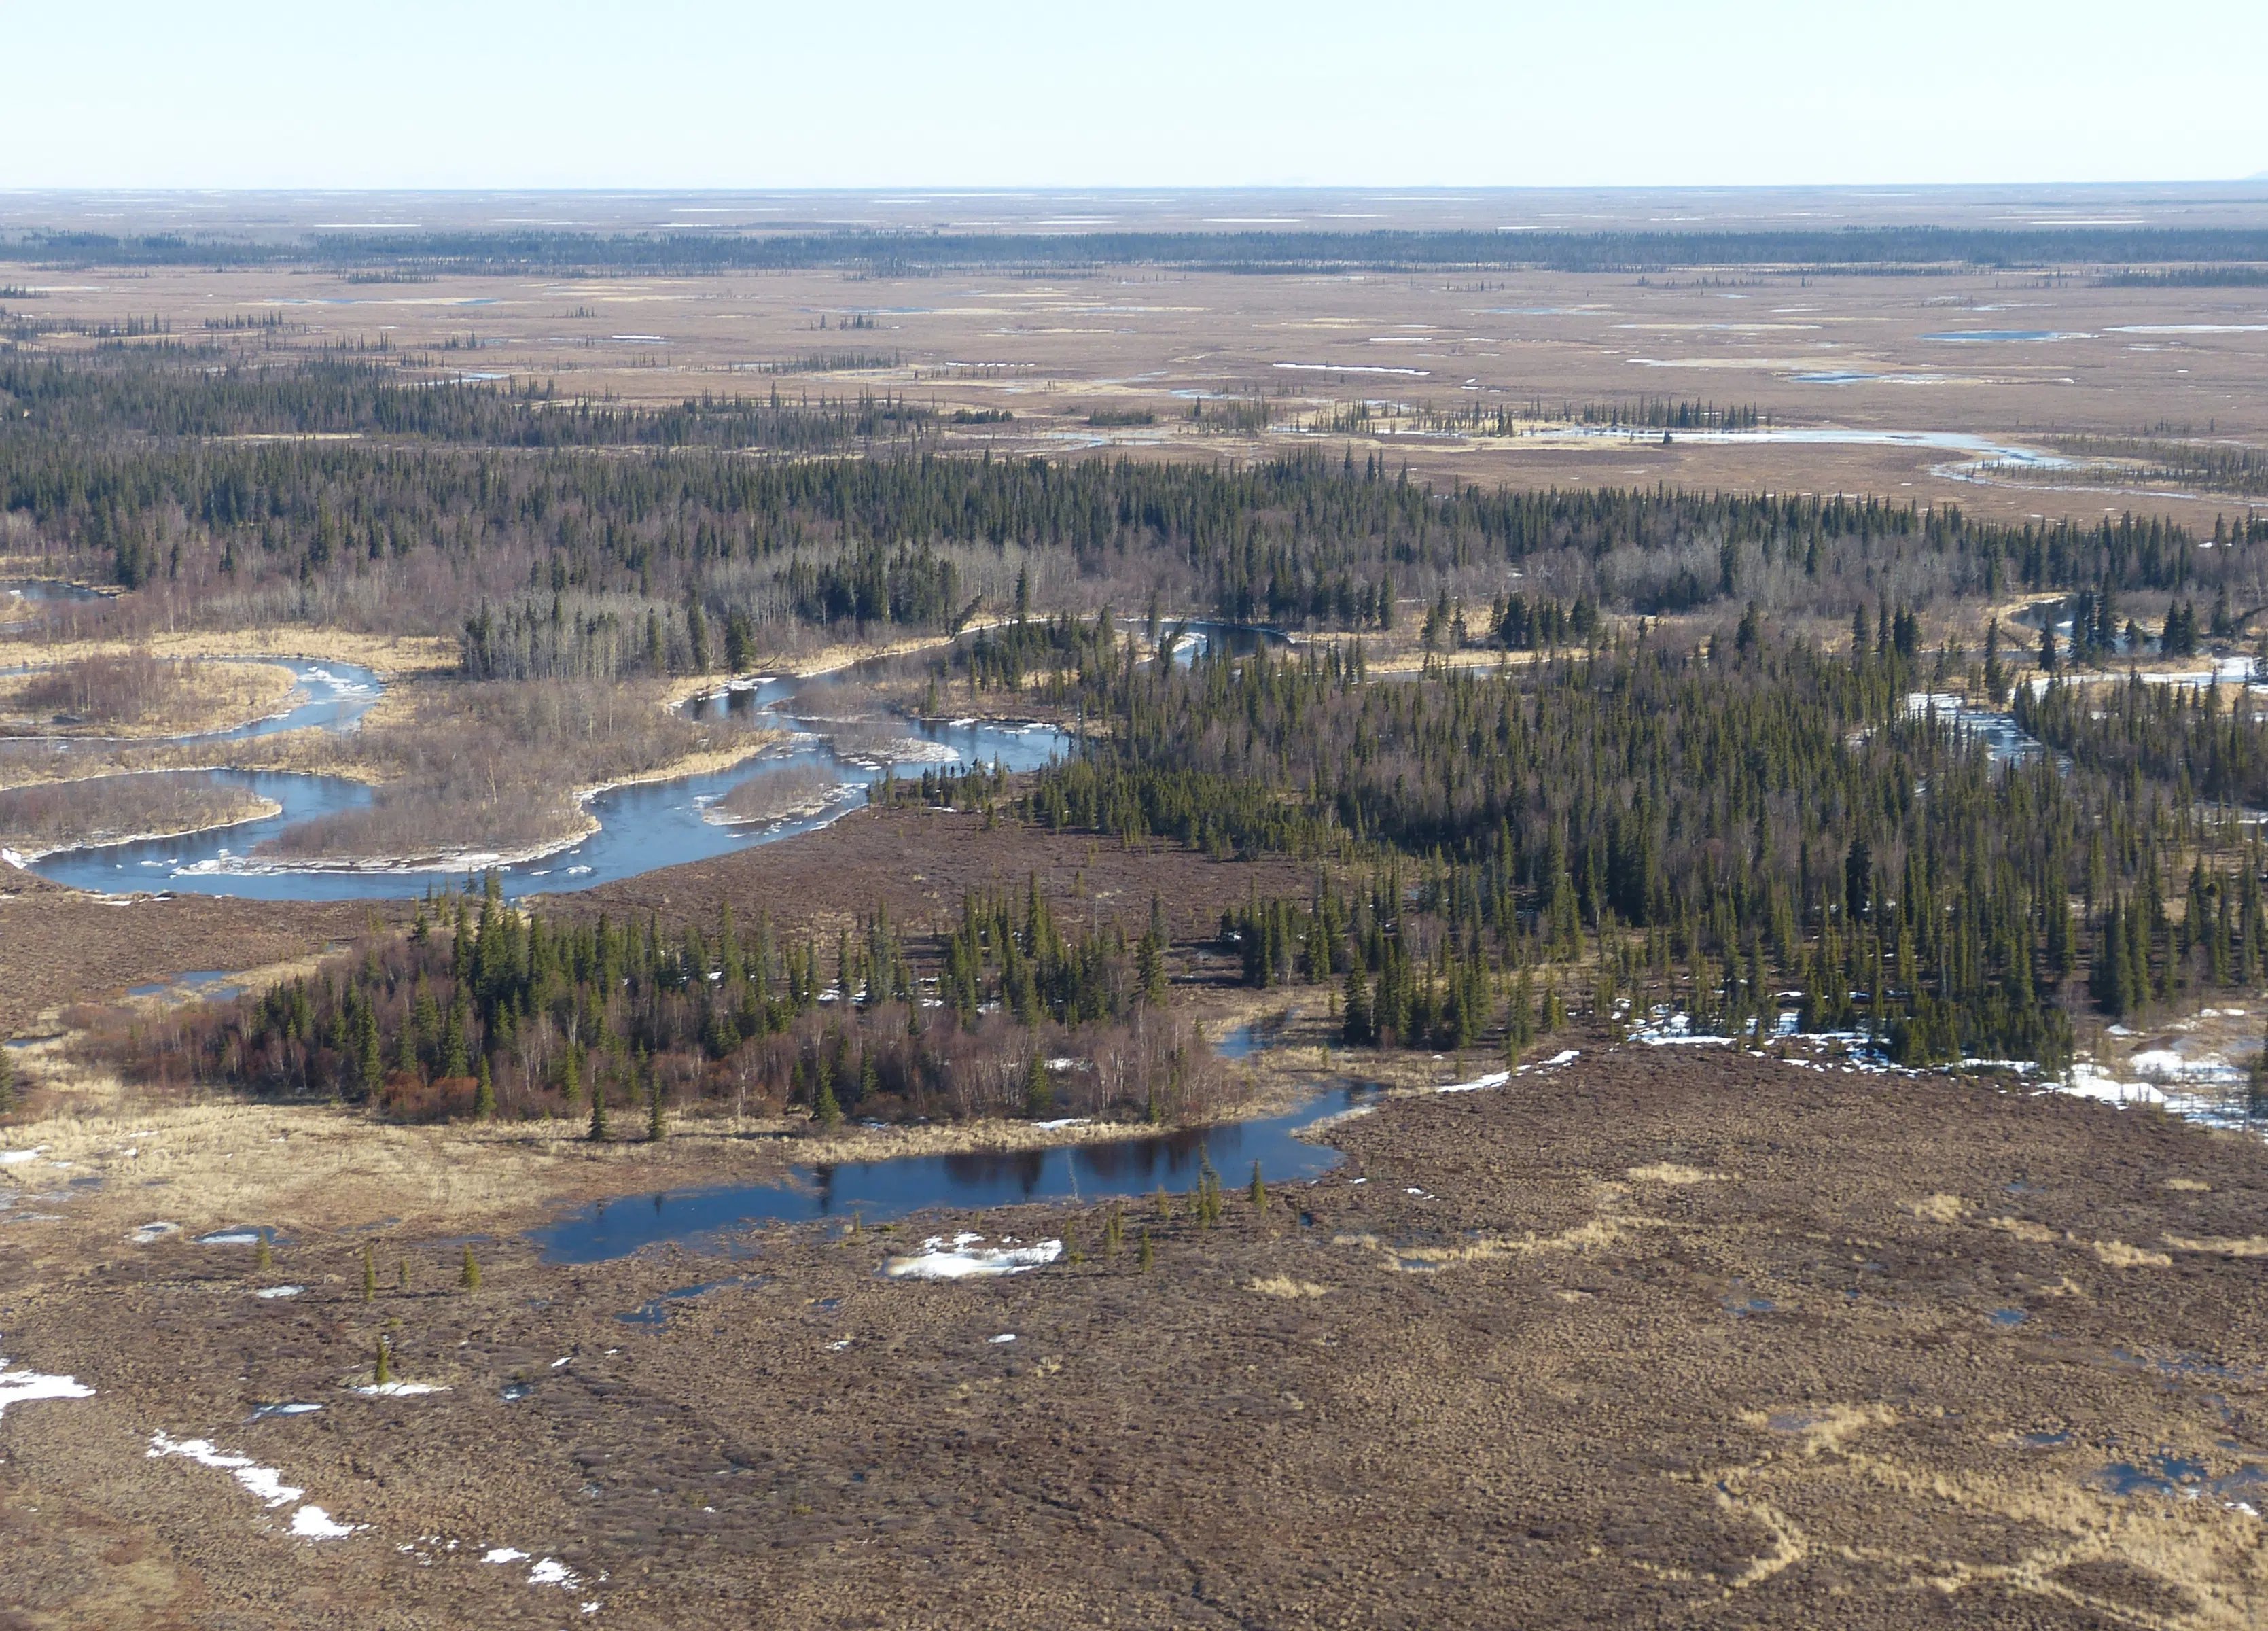
[[[0,0],[0,188],[2268,170],[2268,0]]]

